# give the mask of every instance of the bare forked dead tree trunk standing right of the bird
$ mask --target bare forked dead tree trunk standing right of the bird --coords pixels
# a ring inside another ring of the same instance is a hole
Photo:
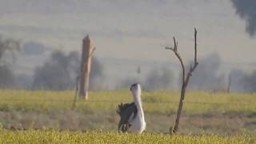
[[[175,40],[175,37],[174,37],[174,47],[166,47],[166,50],[172,50],[174,52],[174,54],[178,58],[180,64],[182,65],[182,91],[181,91],[181,97],[180,97],[179,104],[178,104],[178,110],[177,110],[177,115],[176,115],[176,121],[175,121],[175,124],[174,124],[174,128],[170,127],[170,134],[178,132],[178,124],[179,124],[179,120],[180,120],[180,117],[181,117],[181,114],[182,114],[182,106],[183,106],[184,99],[185,99],[186,86],[188,85],[188,83],[190,81],[190,77],[192,76],[193,71],[198,66],[198,59],[197,59],[197,33],[198,33],[197,29],[194,28],[194,64],[190,66],[190,70],[188,71],[187,74],[186,74],[186,71],[185,71],[185,66],[184,66],[184,63],[182,61],[182,58],[178,54],[178,42]]]

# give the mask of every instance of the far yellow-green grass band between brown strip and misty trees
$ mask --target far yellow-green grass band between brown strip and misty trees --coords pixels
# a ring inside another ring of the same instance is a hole
[[[69,110],[74,91],[0,90],[0,110]],[[87,102],[78,100],[77,110],[113,113],[118,103],[131,101],[130,91],[93,91]],[[173,91],[143,92],[142,103],[148,114],[174,114],[179,93]],[[255,113],[256,94],[211,94],[187,92],[183,112],[186,114]]]

